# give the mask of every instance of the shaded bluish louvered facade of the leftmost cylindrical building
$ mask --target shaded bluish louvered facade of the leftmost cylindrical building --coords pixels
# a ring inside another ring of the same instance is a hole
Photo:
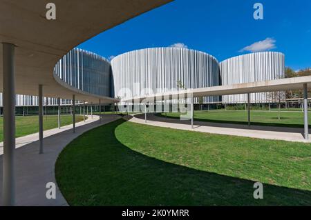
[[[73,49],[60,59],[54,74],[68,85],[91,94],[111,97],[111,66],[109,61],[100,55],[81,49]],[[0,93],[0,106],[3,104]],[[62,105],[70,105],[71,100],[61,99]],[[57,99],[44,98],[44,104],[57,105]],[[16,95],[16,106],[38,106],[38,97]]]

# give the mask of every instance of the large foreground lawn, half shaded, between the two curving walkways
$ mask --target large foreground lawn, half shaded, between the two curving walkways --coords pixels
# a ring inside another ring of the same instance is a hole
[[[311,145],[124,122],[95,128],[59,155],[71,206],[311,205]],[[254,181],[264,199],[253,198]]]

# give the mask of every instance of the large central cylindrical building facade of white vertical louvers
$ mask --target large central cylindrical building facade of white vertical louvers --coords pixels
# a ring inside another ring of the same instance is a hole
[[[132,97],[177,90],[181,81],[185,88],[219,85],[218,61],[205,52],[185,48],[149,48],[126,52],[111,61],[115,95],[129,89]],[[206,97],[204,102],[219,101]]]

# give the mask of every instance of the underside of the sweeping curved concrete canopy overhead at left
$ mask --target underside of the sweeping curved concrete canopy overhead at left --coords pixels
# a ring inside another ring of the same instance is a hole
[[[55,63],[79,43],[169,1],[54,0],[56,20],[47,20],[46,4],[50,1],[0,0],[0,42],[16,46],[15,92],[37,95],[42,84],[45,97],[72,99],[75,94],[81,101],[117,102],[59,84],[53,76]],[[2,45],[0,66],[2,81]]]

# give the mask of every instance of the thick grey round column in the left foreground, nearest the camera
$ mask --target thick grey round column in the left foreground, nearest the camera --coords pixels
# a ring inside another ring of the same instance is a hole
[[[15,46],[3,45],[3,205],[15,205]]]

